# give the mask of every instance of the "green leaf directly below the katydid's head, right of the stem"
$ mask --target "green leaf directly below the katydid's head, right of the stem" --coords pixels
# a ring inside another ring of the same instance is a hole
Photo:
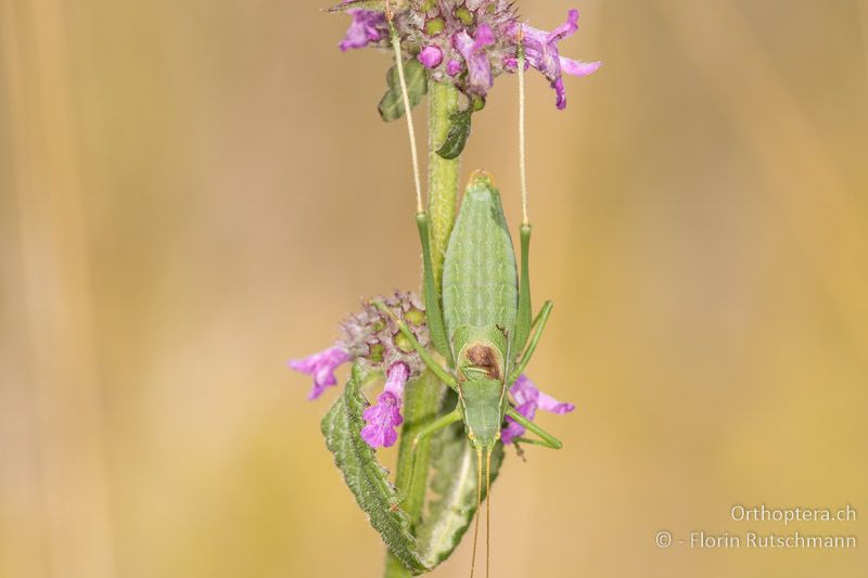
[[[444,407],[454,408],[458,401],[449,394]],[[462,423],[454,424],[437,434],[432,441],[434,475],[431,488],[437,499],[429,504],[429,515],[418,529],[419,552],[429,567],[445,561],[461,541],[476,513],[476,452],[468,441]],[[503,461],[503,445],[492,452],[492,483]],[[485,467],[485,464],[483,464]],[[483,478],[483,499],[485,479]]]

